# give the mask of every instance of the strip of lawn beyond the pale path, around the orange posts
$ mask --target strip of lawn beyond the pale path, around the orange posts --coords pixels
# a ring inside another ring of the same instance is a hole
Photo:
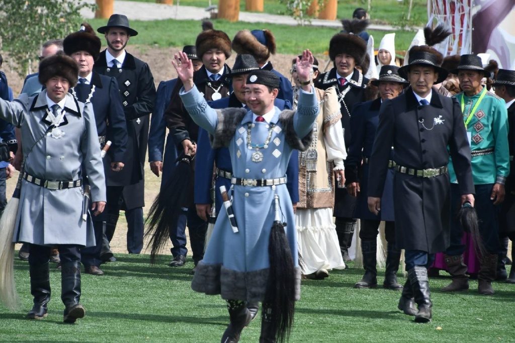
[[[146,3],[155,3],[155,0],[133,0]],[[174,0],[174,5],[178,0]],[[211,4],[218,5],[218,0],[212,0]],[[374,23],[406,23],[409,0],[372,0],[370,19]],[[410,25],[425,25],[427,21],[426,1],[414,0],[411,9]],[[179,0],[182,6],[208,7],[209,0]],[[358,7],[367,8],[365,0],[340,0],[338,1],[337,18],[351,18],[352,13]],[[240,11],[245,11],[245,0],[239,2]],[[270,14],[284,14],[285,5],[277,0],[264,0],[264,12]]]

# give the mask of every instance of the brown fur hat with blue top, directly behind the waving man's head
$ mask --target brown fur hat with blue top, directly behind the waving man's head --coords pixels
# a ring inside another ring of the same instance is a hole
[[[270,54],[276,53],[276,38],[270,30],[241,30],[232,40],[232,48],[238,54],[254,56],[258,63],[266,63]]]

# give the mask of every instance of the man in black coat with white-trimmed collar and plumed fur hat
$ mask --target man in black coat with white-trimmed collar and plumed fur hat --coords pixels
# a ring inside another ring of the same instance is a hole
[[[336,88],[340,102],[345,146],[350,146],[351,110],[355,104],[365,100],[365,87],[368,84],[368,79],[356,69],[356,65],[361,65],[367,55],[367,44],[352,32],[357,34],[363,31],[367,27],[368,21],[356,19],[344,20],[344,22],[344,27],[349,33],[337,33],[329,43],[329,57],[334,62],[334,67],[329,72],[318,76],[315,87],[323,90],[330,87]],[[350,261],[348,250],[356,229],[356,219],[353,219],[356,198],[349,195],[343,187],[344,185],[338,184],[336,188],[333,215],[336,217],[336,234],[342,258],[344,261]]]

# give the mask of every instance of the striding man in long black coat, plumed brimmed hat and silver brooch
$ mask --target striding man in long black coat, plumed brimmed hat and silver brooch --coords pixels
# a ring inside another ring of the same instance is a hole
[[[448,147],[461,202],[474,205],[470,146],[460,106],[455,98],[432,90],[433,84],[448,74],[437,63],[435,53],[431,47],[412,48],[409,64],[399,69],[411,89],[381,105],[368,178],[368,207],[377,215],[393,146],[396,246],[405,249],[408,271],[399,309],[415,315],[417,322],[432,318],[427,266],[432,264],[434,253],[450,245]]]

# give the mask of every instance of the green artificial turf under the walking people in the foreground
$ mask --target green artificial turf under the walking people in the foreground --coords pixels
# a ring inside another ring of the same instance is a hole
[[[167,266],[163,256],[149,265],[148,255],[117,254],[102,265],[103,277],[82,274],[81,303],[86,316],[63,324],[60,273],[51,265],[53,295],[48,317],[29,320],[32,306],[27,262],[15,261],[22,306],[9,312],[0,305],[2,342],[218,342],[228,323],[225,302],[190,288],[193,263]],[[290,342],[508,342],[515,341],[515,285],[496,282],[494,296],[477,294],[471,280],[467,293],[444,294],[449,278],[430,280],[433,322],[419,324],[397,310],[400,292],[354,289],[362,270],[332,271],[329,279],[302,282]],[[441,272],[442,274],[444,272]],[[445,273],[447,274],[447,273]],[[384,270],[379,272],[382,283]],[[399,277],[404,283],[405,278]],[[259,318],[259,317],[258,317]],[[242,334],[242,342],[257,342],[260,320]]]

